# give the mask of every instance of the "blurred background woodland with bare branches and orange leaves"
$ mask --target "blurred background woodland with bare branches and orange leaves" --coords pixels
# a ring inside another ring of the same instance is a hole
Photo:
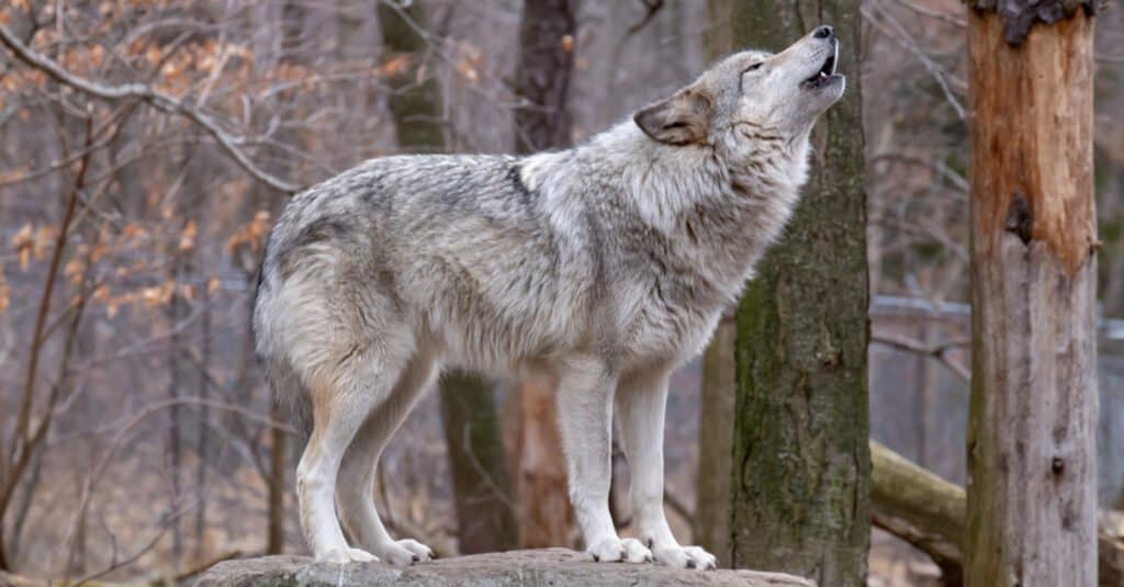
[[[391,153],[583,141],[735,48],[732,4],[0,4],[0,568],[160,579],[227,557],[305,552],[292,484],[302,439],[272,407],[248,317],[287,199]],[[966,9],[858,6],[870,436],[963,486]],[[1106,512],[1124,509],[1122,8],[1108,2],[1097,16],[1095,57]],[[706,470],[708,418],[733,407],[732,396],[703,396],[704,371],[700,358],[676,376],[668,409],[668,505],[685,543],[714,530],[697,500],[718,475]],[[445,554],[577,545],[556,433],[543,426],[550,391],[453,379],[426,395],[381,461],[375,499],[388,527]],[[454,396],[453,386],[474,391]],[[479,418],[472,434],[456,427]],[[489,441],[501,450],[474,452]],[[627,466],[615,462],[625,487]],[[615,484],[614,495],[627,491]],[[614,514],[627,533],[627,499],[614,499]],[[926,557],[876,531],[870,585],[936,576]]]

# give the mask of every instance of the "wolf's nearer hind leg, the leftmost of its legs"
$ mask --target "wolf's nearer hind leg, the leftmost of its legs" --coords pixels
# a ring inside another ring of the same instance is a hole
[[[405,361],[353,350],[316,370],[310,380],[312,434],[297,466],[300,525],[318,561],[366,562],[373,554],[347,545],[336,518],[335,489],[344,452],[368,414],[384,401]]]

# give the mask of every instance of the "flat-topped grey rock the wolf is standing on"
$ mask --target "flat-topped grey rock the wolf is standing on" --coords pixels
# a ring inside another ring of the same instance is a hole
[[[517,550],[436,560],[408,568],[381,562],[316,563],[302,557],[232,560],[211,567],[197,587],[259,586],[347,587],[383,585],[470,587],[570,586],[750,586],[815,587],[813,581],[778,572],[747,570],[696,571],[656,565],[592,562],[565,549]]]

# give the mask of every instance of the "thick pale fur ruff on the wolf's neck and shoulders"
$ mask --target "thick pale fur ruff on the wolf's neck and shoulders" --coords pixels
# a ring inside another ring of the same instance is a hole
[[[808,133],[740,124],[716,135],[706,145],[665,145],[629,120],[574,150],[528,157],[523,178],[545,190],[555,226],[607,210],[610,238],[649,234],[644,253],[729,302],[791,215],[807,178]]]

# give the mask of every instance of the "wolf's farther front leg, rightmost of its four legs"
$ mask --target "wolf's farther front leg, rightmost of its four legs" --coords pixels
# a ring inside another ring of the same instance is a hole
[[[617,410],[620,436],[632,471],[633,516],[641,540],[655,561],[669,567],[713,569],[714,554],[680,547],[663,513],[663,418],[670,369],[633,374],[620,381]]]

